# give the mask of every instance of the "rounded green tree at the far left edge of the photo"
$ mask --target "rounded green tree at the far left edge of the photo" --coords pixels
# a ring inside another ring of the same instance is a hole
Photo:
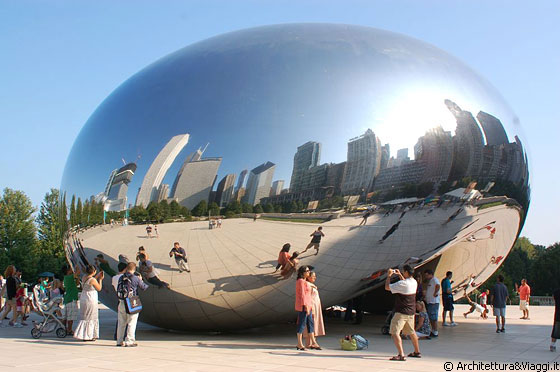
[[[0,267],[16,265],[24,278],[37,274],[35,209],[22,191],[4,189],[0,199]]]

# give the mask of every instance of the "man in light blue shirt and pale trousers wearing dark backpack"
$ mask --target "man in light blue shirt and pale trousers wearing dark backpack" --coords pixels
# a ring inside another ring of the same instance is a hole
[[[134,262],[129,262],[126,266],[126,271],[119,279],[119,282],[123,277],[127,277],[130,280],[131,296],[138,296],[138,288],[146,290],[148,285],[142,281],[142,278],[134,275],[136,271],[136,264]],[[117,328],[117,346],[134,347],[138,346],[136,343],[136,323],[138,322],[138,315],[128,314],[126,312],[126,305],[124,300],[119,299],[118,307],[118,328]],[[126,331],[126,338],[124,335],[124,330]]]

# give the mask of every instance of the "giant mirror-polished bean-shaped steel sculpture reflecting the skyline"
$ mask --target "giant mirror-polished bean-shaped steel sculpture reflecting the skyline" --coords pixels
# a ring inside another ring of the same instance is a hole
[[[143,246],[169,288],[140,294],[140,319],[171,329],[293,318],[278,253],[303,252],[318,226],[319,250],[298,259],[323,305],[404,263],[453,271],[458,298],[523,225],[520,130],[487,81],[409,37],[330,24],[217,36],[141,70],[87,121],[61,186],[67,256],[111,273]],[[110,275],[100,298],[116,308]]]

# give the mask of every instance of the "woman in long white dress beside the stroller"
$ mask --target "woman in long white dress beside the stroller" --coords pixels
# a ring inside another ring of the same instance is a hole
[[[86,275],[82,278],[82,294],[80,295],[80,322],[74,338],[83,341],[95,341],[99,338],[99,310],[97,292],[101,290],[103,271],[97,274],[94,266],[89,265]]]

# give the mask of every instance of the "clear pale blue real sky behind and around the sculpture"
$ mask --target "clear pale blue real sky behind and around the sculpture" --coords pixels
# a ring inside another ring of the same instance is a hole
[[[519,116],[532,172],[522,232],[560,240],[560,2],[0,0],[0,186],[39,204],[82,125],[119,84],[179,48],[292,22],[371,26],[433,44],[488,79]],[[128,159],[127,159],[128,160]]]

